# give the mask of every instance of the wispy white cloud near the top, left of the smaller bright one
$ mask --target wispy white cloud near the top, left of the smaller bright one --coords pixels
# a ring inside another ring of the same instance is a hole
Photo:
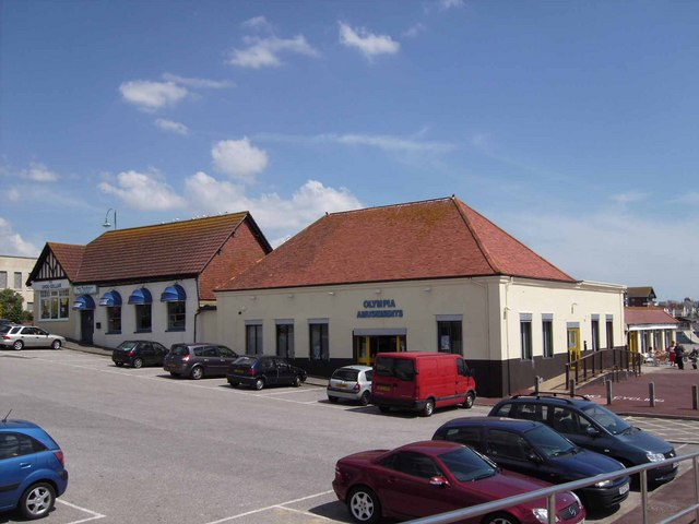
[[[246,36],[242,41],[247,47],[245,49],[234,49],[228,59],[228,63],[241,68],[260,69],[281,66],[282,61],[279,55],[282,52],[292,52],[307,57],[319,56],[319,52],[313,49],[301,35],[295,36],[294,38],[277,38],[276,36],[259,38],[256,36]]]

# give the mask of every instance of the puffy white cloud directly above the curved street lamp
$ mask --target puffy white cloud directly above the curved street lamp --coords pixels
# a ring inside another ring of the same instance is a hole
[[[185,205],[185,200],[159,178],[157,172],[123,171],[117,175],[115,183],[102,182],[99,189],[135,210],[163,211]]]

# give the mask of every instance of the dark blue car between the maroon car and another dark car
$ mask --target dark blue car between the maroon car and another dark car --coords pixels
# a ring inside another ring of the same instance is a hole
[[[433,440],[470,445],[503,469],[553,484],[624,469],[624,464],[584,450],[548,426],[501,417],[457,418],[441,426]],[[602,480],[577,491],[585,508],[607,510],[629,496],[629,477]]]

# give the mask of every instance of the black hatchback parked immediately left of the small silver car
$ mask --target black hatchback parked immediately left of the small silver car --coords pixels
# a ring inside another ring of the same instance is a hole
[[[228,367],[226,379],[233,388],[240,384],[261,390],[265,385],[294,385],[306,382],[306,370],[292,366],[282,357],[246,355]]]

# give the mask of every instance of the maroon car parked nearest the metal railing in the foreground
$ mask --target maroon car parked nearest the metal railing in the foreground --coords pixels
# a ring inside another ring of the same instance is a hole
[[[455,442],[415,442],[395,450],[363,451],[335,465],[332,487],[354,522],[382,517],[419,519],[549,487],[548,483],[503,472],[471,448]],[[556,522],[582,522],[578,497],[556,496]],[[548,522],[546,498],[477,517],[481,524]]]

